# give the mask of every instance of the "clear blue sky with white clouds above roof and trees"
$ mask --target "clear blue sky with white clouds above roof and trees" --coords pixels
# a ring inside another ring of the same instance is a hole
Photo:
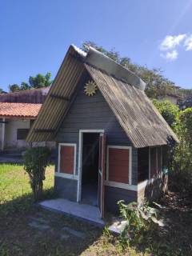
[[[0,87],[57,73],[71,43],[94,41],[192,88],[192,0],[0,0]]]

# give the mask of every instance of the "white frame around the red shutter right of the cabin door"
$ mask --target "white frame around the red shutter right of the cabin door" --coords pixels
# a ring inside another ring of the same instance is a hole
[[[119,182],[112,182],[109,180],[109,149],[121,149],[121,150],[129,150],[129,183],[119,183]],[[106,146],[106,182],[108,184],[116,184],[117,187],[121,186],[122,188],[124,186],[132,184],[132,146],[116,146],[116,145],[108,145]],[[119,183],[119,184],[118,184]]]

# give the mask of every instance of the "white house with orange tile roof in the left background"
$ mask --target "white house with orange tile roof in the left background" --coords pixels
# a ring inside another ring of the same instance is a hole
[[[26,136],[49,89],[0,94],[0,150],[23,150],[30,146]]]

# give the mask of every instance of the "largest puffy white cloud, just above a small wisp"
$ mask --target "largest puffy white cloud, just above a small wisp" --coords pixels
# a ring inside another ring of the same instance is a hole
[[[179,46],[180,43],[186,38],[186,34],[178,35],[166,35],[166,38],[162,40],[160,45],[160,50],[174,50],[176,46]],[[172,51],[172,54],[175,52]],[[170,54],[170,53],[167,53]],[[176,57],[177,58],[177,57]]]

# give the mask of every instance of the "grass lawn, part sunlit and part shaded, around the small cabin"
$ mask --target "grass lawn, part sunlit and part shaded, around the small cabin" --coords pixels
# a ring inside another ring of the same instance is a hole
[[[54,196],[53,185],[54,166],[50,166],[45,198]],[[118,238],[106,231],[34,206],[23,166],[0,165],[0,256],[192,255],[191,201],[172,193],[162,205],[166,227],[139,249],[122,251]]]

